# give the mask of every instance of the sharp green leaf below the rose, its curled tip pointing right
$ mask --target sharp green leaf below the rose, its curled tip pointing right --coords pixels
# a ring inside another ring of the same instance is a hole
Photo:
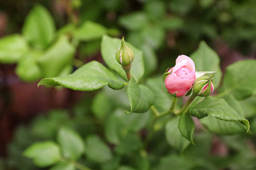
[[[224,99],[208,96],[204,101],[189,109],[188,112],[197,118],[212,116],[223,121],[240,122],[247,130],[250,128],[249,121],[242,118]]]

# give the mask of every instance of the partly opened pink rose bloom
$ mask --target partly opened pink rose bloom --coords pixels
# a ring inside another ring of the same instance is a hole
[[[176,65],[168,70],[172,72],[164,80],[167,90],[170,94],[177,97],[184,96],[192,88],[193,82],[196,80],[195,63],[185,55],[181,55],[176,59]]]

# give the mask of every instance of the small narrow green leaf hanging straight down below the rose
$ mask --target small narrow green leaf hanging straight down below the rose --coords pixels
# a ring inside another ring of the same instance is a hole
[[[183,135],[183,137],[185,137],[186,139],[188,139],[188,141],[190,141],[191,143],[193,143],[193,145],[195,145],[195,143],[193,142],[193,133],[195,130],[195,124],[191,116],[189,116],[189,114],[187,113],[181,114],[180,120],[179,120],[179,130],[180,130],[180,133]]]

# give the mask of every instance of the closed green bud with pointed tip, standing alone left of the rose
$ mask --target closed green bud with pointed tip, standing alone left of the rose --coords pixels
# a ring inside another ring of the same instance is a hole
[[[125,38],[122,38],[121,47],[118,48],[117,53],[115,53],[115,59],[122,66],[128,66],[133,62],[134,54],[133,50],[129,46],[125,45]]]

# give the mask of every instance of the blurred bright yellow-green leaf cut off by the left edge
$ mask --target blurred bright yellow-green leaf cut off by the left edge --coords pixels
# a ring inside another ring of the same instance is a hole
[[[0,39],[0,62],[15,63],[28,51],[26,40],[17,34]]]

